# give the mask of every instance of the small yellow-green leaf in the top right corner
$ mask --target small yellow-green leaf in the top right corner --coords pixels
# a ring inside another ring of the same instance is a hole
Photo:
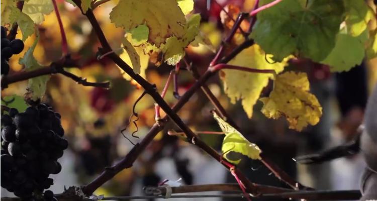
[[[344,0],[347,32],[351,36],[359,36],[373,18],[373,12],[365,1]]]

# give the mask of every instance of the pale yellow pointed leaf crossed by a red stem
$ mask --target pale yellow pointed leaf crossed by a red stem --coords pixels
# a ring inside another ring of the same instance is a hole
[[[256,69],[273,69],[277,74],[284,69],[287,60],[280,63],[268,63],[263,50],[255,44],[240,52],[228,64]],[[241,99],[244,111],[251,118],[253,107],[262,89],[267,85],[268,79],[273,78],[273,75],[225,69],[220,72],[220,77],[224,81],[224,91],[231,103],[235,104]]]

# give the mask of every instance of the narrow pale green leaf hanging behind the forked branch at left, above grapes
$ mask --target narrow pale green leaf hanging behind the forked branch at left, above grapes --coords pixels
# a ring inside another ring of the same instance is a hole
[[[38,68],[43,68],[38,61],[34,58],[33,52],[37,43],[39,41],[39,34],[37,32],[37,38],[35,39],[33,45],[26,51],[23,58],[20,58],[19,63],[25,65],[26,70],[35,70]],[[50,79],[49,75],[43,75],[35,78],[29,79],[28,83],[28,93],[27,95],[32,100],[37,100],[41,98],[46,91],[47,81]]]

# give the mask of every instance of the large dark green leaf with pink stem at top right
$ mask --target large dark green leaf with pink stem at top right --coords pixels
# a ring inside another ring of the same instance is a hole
[[[284,0],[257,15],[251,37],[276,61],[294,54],[319,62],[335,46],[343,13],[343,1]]]

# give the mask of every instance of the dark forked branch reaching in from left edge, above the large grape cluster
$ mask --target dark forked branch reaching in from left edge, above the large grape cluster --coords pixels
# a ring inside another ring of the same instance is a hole
[[[110,82],[88,82],[85,78],[78,77],[68,71],[65,71],[63,67],[71,67],[71,66],[78,66],[76,60],[72,60],[68,57],[63,57],[59,61],[53,62],[50,64],[50,66],[44,66],[42,68],[38,68],[31,71],[22,71],[19,73],[15,73],[12,75],[5,75],[2,76],[1,80],[1,88],[2,90],[7,88],[9,84],[27,80],[34,77],[39,77],[43,75],[50,75],[50,74],[56,74],[60,73],[66,77],[69,77],[76,81],[78,84],[81,84],[83,86],[95,86],[95,87],[103,87],[103,88],[109,88]]]

